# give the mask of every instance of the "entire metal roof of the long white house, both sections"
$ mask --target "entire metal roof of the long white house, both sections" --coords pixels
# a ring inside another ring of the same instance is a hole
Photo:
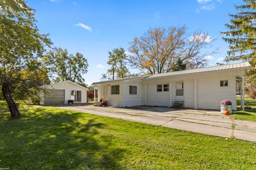
[[[153,74],[153,75],[141,75],[141,76],[131,77],[131,78],[94,82],[92,84],[95,85],[95,84],[115,83],[115,82],[123,82],[125,80],[135,80],[135,79],[153,79],[153,78],[169,77],[174,75],[214,72],[214,71],[222,71],[222,70],[249,69],[250,67],[251,65],[249,62],[243,62],[243,63],[202,67],[198,69],[188,69],[188,70],[173,71],[173,72],[167,72],[167,73],[159,73],[159,74]]]

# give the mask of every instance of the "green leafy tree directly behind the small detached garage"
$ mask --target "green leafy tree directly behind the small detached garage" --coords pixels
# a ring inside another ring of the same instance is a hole
[[[67,49],[54,47],[44,57],[54,82],[70,80],[83,83],[83,74],[87,73],[88,61],[81,53],[69,54]]]

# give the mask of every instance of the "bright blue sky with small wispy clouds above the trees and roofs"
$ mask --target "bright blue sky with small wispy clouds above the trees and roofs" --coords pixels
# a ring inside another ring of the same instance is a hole
[[[36,10],[41,33],[50,33],[54,46],[67,48],[70,53],[82,53],[89,61],[85,83],[100,81],[108,69],[108,51],[129,48],[135,36],[148,28],[180,27],[188,31],[202,29],[217,39],[213,48],[219,53],[209,57],[209,65],[222,62],[228,50],[220,35],[235,13],[234,5],[242,0],[169,0],[169,1],[84,1],[27,0]]]

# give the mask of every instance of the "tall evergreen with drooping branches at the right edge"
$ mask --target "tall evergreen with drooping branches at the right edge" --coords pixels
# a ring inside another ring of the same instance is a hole
[[[239,12],[229,14],[228,31],[221,32],[222,39],[229,44],[229,61],[248,61],[252,68],[247,71],[246,85],[256,91],[256,1],[243,0],[245,4],[235,6]]]

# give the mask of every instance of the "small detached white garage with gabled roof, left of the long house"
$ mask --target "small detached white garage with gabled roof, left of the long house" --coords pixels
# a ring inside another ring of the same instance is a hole
[[[45,93],[41,95],[41,104],[67,104],[68,100],[74,100],[74,103],[86,103],[87,90],[69,80],[53,83],[46,86]]]

